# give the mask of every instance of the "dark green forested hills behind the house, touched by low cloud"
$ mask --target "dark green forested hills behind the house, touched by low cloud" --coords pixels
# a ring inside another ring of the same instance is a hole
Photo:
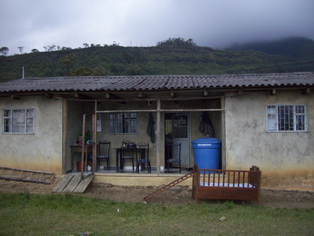
[[[76,49],[51,45],[46,52],[33,49],[31,53],[0,56],[0,81],[21,78],[22,67],[28,77],[314,71],[313,40],[306,40],[303,46],[293,42],[273,47],[237,45],[241,51],[235,50],[235,45],[232,50],[199,47],[192,39],[182,38],[169,38],[154,47],[83,45],[85,48]]]

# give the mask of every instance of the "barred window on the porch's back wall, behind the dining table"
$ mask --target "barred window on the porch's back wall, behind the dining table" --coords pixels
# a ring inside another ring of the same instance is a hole
[[[137,133],[136,113],[109,114],[109,133]]]

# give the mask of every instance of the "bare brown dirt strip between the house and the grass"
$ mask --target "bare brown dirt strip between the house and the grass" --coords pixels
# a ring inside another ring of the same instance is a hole
[[[29,192],[30,194],[50,194],[54,184],[28,183],[0,179],[0,192]],[[117,202],[142,202],[143,197],[151,194],[153,187],[122,187],[109,184],[89,184],[82,194],[90,198],[109,199]],[[199,200],[200,202],[217,202],[217,200]],[[223,202],[223,201],[222,201]],[[234,201],[235,204],[256,205],[256,201]],[[147,204],[164,205],[194,204],[190,187],[173,187],[147,201]],[[314,208],[314,192],[261,190],[261,206],[273,208]]]

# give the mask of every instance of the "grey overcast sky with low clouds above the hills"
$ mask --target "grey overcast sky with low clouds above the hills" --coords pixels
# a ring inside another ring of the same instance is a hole
[[[0,48],[9,55],[47,45],[155,46],[192,38],[223,49],[234,42],[314,39],[314,0],[0,0]]]

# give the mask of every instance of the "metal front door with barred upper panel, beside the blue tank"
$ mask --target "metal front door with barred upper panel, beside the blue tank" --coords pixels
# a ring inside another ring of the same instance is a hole
[[[181,166],[190,167],[190,115],[187,113],[165,114],[165,142],[181,143]],[[165,163],[168,157],[165,155]]]

